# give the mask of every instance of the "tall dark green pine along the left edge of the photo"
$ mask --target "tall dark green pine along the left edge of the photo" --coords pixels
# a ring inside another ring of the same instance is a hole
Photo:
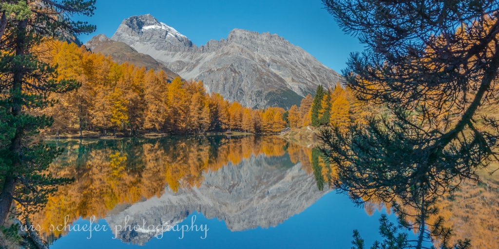
[[[37,46],[93,32],[94,25],[71,17],[91,16],[94,4],[95,0],[12,0],[0,5],[0,225],[13,200],[26,215],[43,206],[58,185],[71,180],[46,173],[61,150],[33,139],[53,119],[31,113],[55,104],[48,99],[51,93],[73,91],[80,84],[54,81],[56,68],[41,61]]]

